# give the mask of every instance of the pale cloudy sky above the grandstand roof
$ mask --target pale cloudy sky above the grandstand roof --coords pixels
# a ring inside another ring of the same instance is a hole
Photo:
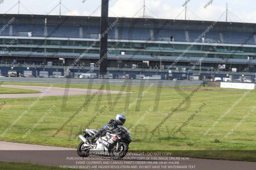
[[[82,2],[84,1],[84,2]],[[256,3],[255,0],[187,0],[187,19],[214,21],[219,19],[226,11],[228,3],[228,21],[229,22],[247,22],[256,23]],[[209,6],[204,6],[212,1]],[[0,0],[0,11],[6,13],[18,0]],[[182,5],[186,0],[145,0],[147,18],[162,19],[185,19],[185,10]],[[20,14],[46,15],[60,0],[20,0]],[[101,0],[62,0],[61,3],[76,16],[89,16],[96,10]],[[143,7],[144,0],[109,0],[109,17],[133,17],[136,12]],[[64,6],[61,6],[61,15],[73,15]],[[49,15],[59,15],[59,6]],[[180,12],[184,10],[181,14]],[[152,11],[152,12],[151,12]],[[192,12],[191,12],[192,11]],[[17,14],[18,5],[12,8],[7,14]],[[180,16],[177,18],[177,16]],[[100,16],[100,8],[91,16]],[[237,17],[238,18],[237,18]],[[143,9],[140,10],[135,18],[143,17]],[[219,21],[226,21],[226,13]]]

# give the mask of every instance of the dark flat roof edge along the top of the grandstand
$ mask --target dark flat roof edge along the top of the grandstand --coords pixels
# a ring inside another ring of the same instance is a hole
[[[36,21],[44,22],[47,18],[48,24],[51,24],[51,21],[60,21],[66,16],[59,15],[28,15],[28,14],[0,14],[0,23],[5,23],[4,20],[9,20],[10,18],[16,18],[19,22],[28,23],[28,20],[33,21],[31,24],[38,24]],[[114,22],[116,17],[109,17],[109,23]],[[143,24],[143,25],[155,25],[162,24],[167,19],[155,19],[155,18],[118,18],[119,24]],[[168,19],[169,23],[167,25],[179,25],[179,26],[210,26],[214,21],[199,21],[199,20],[174,20]],[[69,16],[68,21],[65,25],[81,25],[83,26],[87,22],[100,23],[100,17],[88,17],[88,16]],[[56,23],[55,23],[56,24]],[[250,28],[255,29],[255,23],[241,23],[241,22],[218,22],[215,26],[217,27],[233,27],[233,28]]]

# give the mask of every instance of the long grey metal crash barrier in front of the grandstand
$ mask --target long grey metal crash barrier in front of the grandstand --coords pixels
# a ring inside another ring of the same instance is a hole
[[[204,81],[138,80],[138,79],[80,79],[80,78],[0,78],[0,82],[50,83],[50,84],[95,84],[95,85],[155,85],[204,86]]]

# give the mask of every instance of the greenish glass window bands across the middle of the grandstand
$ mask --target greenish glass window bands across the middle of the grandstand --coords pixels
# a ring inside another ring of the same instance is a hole
[[[9,45],[10,41],[12,39],[0,39],[0,45],[2,49],[4,48],[5,45]],[[18,39],[12,44],[12,47],[8,48],[7,51],[31,51],[33,50],[32,45],[38,45],[41,44],[43,40],[36,40],[36,39]],[[59,46],[64,42],[65,40],[47,40],[45,42],[46,46],[58,46],[56,48],[38,48],[36,52],[49,52],[52,53],[56,49],[59,48]],[[94,41],[94,40],[93,40]],[[90,45],[92,45],[93,41],[67,41],[66,47],[69,48],[61,48],[60,52],[63,53],[83,53],[85,49],[87,49]],[[111,41],[108,42],[108,48],[111,48],[113,45],[116,47],[114,50],[112,49],[110,54],[121,54],[121,51],[125,51],[126,55],[133,55],[134,52],[139,49],[144,42],[119,42],[117,43],[116,41]],[[19,46],[24,46],[26,45],[27,47],[19,47]],[[31,47],[29,47],[31,46]],[[160,43],[148,43],[146,44],[145,48],[141,49],[140,52],[137,55],[150,55],[154,56],[156,53],[159,52],[159,50],[164,46],[164,44]],[[74,47],[71,48],[70,47]],[[81,47],[83,47],[81,49]],[[170,44],[165,51],[161,52],[160,55],[162,56],[180,56],[185,49],[189,47],[189,44]],[[205,54],[206,51],[208,51],[212,46],[208,45],[205,43],[205,45],[194,45],[190,50],[184,55],[184,57],[202,57],[202,55]],[[96,42],[96,44],[93,46],[93,48],[96,49],[91,49],[88,53],[92,54],[99,54],[99,49],[100,48],[100,42]],[[228,58],[230,54],[227,53],[232,53],[234,52],[238,47],[232,47],[232,46],[216,46],[215,48],[212,49],[211,54],[208,54],[208,58]],[[226,53],[226,54],[225,54]],[[244,54],[244,53],[249,53],[249,54]],[[256,53],[256,48],[255,47],[243,47],[240,50],[236,52],[235,55],[233,55],[234,58],[236,59],[248,59],[248,55],[254,55]]]

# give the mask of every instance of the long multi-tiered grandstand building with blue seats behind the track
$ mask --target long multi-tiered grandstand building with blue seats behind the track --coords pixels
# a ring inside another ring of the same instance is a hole
[[[110,78],[255,77],[255,24],[110,17],[109,26]],[[70,68],[78,77],[95,66],[98,76],[99,36],[100,17],[1,14],[0,74],[58,77]]]

